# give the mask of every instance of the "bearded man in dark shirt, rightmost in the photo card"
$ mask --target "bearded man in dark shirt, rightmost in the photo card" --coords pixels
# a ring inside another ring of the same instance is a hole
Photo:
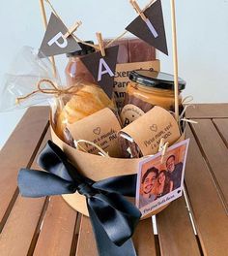
[[[183,163],[180,162],[175,165],[175,159],[175,155],[170,155],[166,160],[168,176],[170,180],[173,181],[173,190],[181,186],[183,171]]]

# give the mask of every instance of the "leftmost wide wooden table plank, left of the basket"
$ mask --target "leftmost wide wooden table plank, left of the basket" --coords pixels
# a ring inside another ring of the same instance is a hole
[[[0,151],[0,232],[4,226],[3,216],[16,190],[16,176],[21,167],[26,167],[38,150],[43,130],[47,125],[48,109],[30,108],[16,126],[13,134]],[[15,198],[17,193],[15,194]],[[14,198],[14,200],[15,200]]]

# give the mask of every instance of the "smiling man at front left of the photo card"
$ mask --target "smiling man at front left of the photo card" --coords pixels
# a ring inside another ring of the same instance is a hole
[[[139,197],[139,208],[143,208],[156,200],[156,195],[153,194],[153,190],[157,183],[157,176],[158,170],[155,167],[148,169],[147,172],[142,176],[142,194]]]

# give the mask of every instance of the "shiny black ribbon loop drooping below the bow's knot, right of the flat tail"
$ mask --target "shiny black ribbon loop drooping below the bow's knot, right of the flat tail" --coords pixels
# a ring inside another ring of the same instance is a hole
[[[102,229],[117,246],[124,244],[139,222],[141,212],[117,193],[97,194],[87,199]]]

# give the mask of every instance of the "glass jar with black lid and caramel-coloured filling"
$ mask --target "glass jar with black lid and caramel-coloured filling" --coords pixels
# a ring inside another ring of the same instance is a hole
[[[121,112],[124,126],[159,106],[175,111],[174,76],[150,70],[135,70],[129,73],[129,83]],[[182,110],[182,91],[185,80],[179,79],[179,106]]]

